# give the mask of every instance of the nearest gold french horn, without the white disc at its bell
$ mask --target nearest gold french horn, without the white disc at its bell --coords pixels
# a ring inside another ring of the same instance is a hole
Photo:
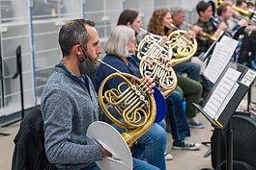
[[[117,73],[106,77],[100,84],[100,107],[115,125],[127,131],[122,136],[128,147],[131,147],[134,141],[145,134],[155,121],[156,102],[154,96],[147,93],[149,87],[138,78],[128,73],[122,73],[104,61],[100,62],[117,71]],[[113,78],[121,78],[124,82],[116,88],[106,90],[103,94],[104,85]],[[129,81],[131,78],[135,79],[134,85]],[[116,109],[119,117],[115,117],[109,112],[106,103]],[[122,118],[124,122],[120,120]]]

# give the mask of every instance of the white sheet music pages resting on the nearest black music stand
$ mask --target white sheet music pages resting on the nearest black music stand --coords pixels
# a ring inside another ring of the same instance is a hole
[[[226,108],[232,96],[239,87],[237,81],[241,76],[241,72],[233,68],[228,68],[219,84],[215,87],[211,98],[204,107],[213,119],[218,119],[223,109]]]

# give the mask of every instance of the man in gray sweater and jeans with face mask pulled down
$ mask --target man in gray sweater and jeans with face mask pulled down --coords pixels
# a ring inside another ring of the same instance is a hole
[[[111,157],[111,153],[100,144],[89,144],[86,132],[91,123],[105,116],[92,82],[79,68],[81,62],[95,63],[100,57],[95,23],[68,21],[60,29],[59,44],[63,58],[55,65],[41,100],[46,157],[57,169],[100,170],[96,161]],[[149,79],[145,83],[152,85]],[[132,161],[136,170],[158,169],[136,158]]]

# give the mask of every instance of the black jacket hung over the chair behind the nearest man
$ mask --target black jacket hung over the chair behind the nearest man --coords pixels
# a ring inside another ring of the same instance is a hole
[[[20,123],[14,138],[12,170],[53,170],[44,151],[43,119],[40,109],[33,109]]]

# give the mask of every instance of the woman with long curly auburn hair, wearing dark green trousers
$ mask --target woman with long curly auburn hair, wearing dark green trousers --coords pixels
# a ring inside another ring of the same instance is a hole
[[[156,10],[148,24],[148,31],[159,36],[168,36],[171,32],[172,15],[168,9]],[[192,103],[198,103],[202,94],[202,85],[197,81],[177,74],[177,90],[185,97],[185,116],[190,128],[202,129],[205,126],[196,117],[196,109]]]

